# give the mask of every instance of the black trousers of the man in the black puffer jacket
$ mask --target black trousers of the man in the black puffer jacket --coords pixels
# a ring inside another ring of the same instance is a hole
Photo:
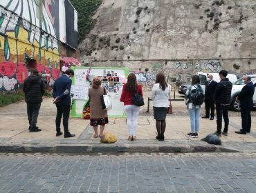
[[[224,119],[224,122],[225,122],[223,132],[228,132],[228,125],[229,125],[228,108],[229,108],[229,106],[223,106],[223,105],[220,105],[220,104],[216,104],[217,132],[218,133],[221,133],[222,116],[223,116],[223,119]]]

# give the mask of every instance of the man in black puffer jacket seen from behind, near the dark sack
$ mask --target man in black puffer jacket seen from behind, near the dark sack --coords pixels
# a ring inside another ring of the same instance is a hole
[[[215,132],[214,134],[217,134],[218,136],[221,136],[222,116],[225,122],[222,134],[228,135],[228,108],[230,105],[232,83],[226,78],[227,75],[228,72],[226,70],[221,70],[219,72],[219,78],[221,79],[221,81],[217,83],[213,95],[213,100],[216,104],[217,114],[217,132]]]

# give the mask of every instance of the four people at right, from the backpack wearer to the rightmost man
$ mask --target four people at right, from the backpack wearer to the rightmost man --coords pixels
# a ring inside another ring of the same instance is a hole
[[[227,78],[228,72],[226,70],[221,70],[219,72],[219,78],[221,81],[217,83],[212,78],[212,74],[208,74],[209,81],[205,83],[205,116],[203,119],[214,120],[214,109],[216,108],[217,114],[217,131],[214,132],[217,136],[221,134],[228,136],[228,109],[230,107],[230,98],[232,91],[232,83]],[[249,76],[244,76],[244,83],[246,84],[242,88],[241,92],[237,96],[236,100],[239,101],[239,106],[241,108],[241,125],[242,129],[235,131],[237,134],[246,134],[250,132],[251,128],[251,116],[250,110],[253,107],[253,94],[255,87],[250,81]],[[191,94],[198,90],[201,90],[199,85],[199,76],[192,76],[191,86],[188,88],[185,93],[185,101],[190,115],[190,125],[191,132],[188,133],[188,136],[195,138],[199,137],[199,116],[201,111],[201,105],[194,105],[191,100]],[[222,117],[224,120],[224,128],[222,129]]]

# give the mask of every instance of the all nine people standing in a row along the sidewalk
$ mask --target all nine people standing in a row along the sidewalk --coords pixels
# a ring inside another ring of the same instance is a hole
[[[60,124],[63,116],[64,137],[73,137],[75,134],[71,134],[68,130],[68,119],[70,115],[71,106],[71,77],[73,77],[74,71],[68,69],[64,72],[62,77],[58,78],[54,85],[52,94],[54,97],[53,103],[57,108],[57,115],[55,119],[56,136],[62,135]],[[217,131],[215,134],[221,136],[222,128],[222,116],[224,119],[224,128],[222,134],[228,135],[228,108],[230,105],[230,96],[232,90],[232,83],[226,78],[228,72],[221,70],[219,77],[221,81],[217,83],[212,80],[212,74],[208,74],[210,81],[205,83],[205,116],[202,118],[214,120],[214,108],[216,105],[217,114]],[[251,119],[250,108],[253,106],[253,94],[254,85],[250,81],[250,77],[244,77],[246,85],[241,90],[237,101],[240,101],[242,129],[237,131],[238,134],[246,134],[250,132]],[[201,104],[194,104],[192,101],[192,94],[196,92],[203,92],[201,85],[199,84],[199,76],[192,76],[192,83],[185,93],[185,104],[190,116],[191,131],[188,136],[192,138],[199,137],[199,116],[201,112]],[[37,117],[39,114],[39,108],[42,103],[42,96],[45,92],[45,85],[39,76],[36,69],[31,70],[31,74],[24,81],[25,98],[27,103],[28,122],[30,132],[41,131],[37,125]],[[166,116],[169,108],[171,86],[167,84],[165,75],[162,72],[156,74],[156,82],[152,88],[151,98],[153,101],[154,119],[156,120],[156,139],[158,141],[165,140],[165,128],[166,128]],[[136,141],[136,132],[138,127],[138,114],[140,107],[133,104],[134,94],[140,94],[143,96],[143,90],[141,85],[137,83],[136,75],[130,73],[127,77],[127,83],[123,85],[120,101],[125,105],[125,112],[127,114],[127,129],[128,140]],[[93,127],[95,138],[101,137],[104,132],[104,127],[109,123],[107,110],[103,110],[101,106],[100,96],[107,94],[105,88],[102,86],[102,79],[100,77],[94,77],[91,88],[89,88],[90,99],[90,125]],[[98,125],[100,125],[100,132],[98,132]]]

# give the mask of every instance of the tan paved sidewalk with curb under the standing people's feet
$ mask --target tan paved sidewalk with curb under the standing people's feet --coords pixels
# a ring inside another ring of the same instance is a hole
[[[175,103],[176,101],[174,101]],[[55,105],[52,99],[44,99],[37,125],[42,132],[28,131],[26,103],[19,102],[0,108],[0,152],[255,152],[256,128],[250,134],[235,134],[241,128],[239,116],[230,117],[228,136],[222,136],[222,145],[210,145],[201,141],[204,136],[216,130],[216,120],[200,120],[198,139],[187,136],[190,132],[188,116],[167,117],[165,141],[157,141],[155,121],[152,116],[139,116],[138,133],[135,142],[127,141],[126,119],[110,118],[105,132],[113,132],[118,141],[102,144],[93,138],[89,120],[71,119],[69,128],[76,136],[64,139],[55,136]],[[256,118],[252,117],[252,125]]]

